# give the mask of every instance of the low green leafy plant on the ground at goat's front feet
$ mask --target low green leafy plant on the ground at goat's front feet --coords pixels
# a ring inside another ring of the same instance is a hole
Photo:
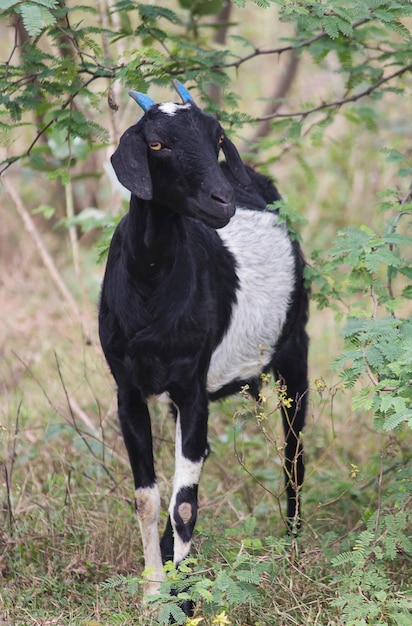
[[[264,540],[252,539],[250,534],[256,525],[257,520],[251,517],[238,529],[245,533],[240,551],[233,550],[231,534],[226,533],[227,537],[223,534],[219,542],[220,556],[215,551],[213,556],[205,551],[201,560],[189,557],[178,568],[171,562],[166,563],[166,581],[161,584],[159,594],[147,598],[149,605],[161,606],[153,623],[160,626],[169,624],[171,619],[177,624],[193,626],[201,622],[214,626],[245,624],[249,620],[266,623],[267,590],[275,584],[282,563],[292,562],[296,545],[289,539],[269,536]],[[144,578],[117,575],[102,583],[102,588],[112,591],[123,587],[135,596],[144,584]],[[195,615],[200,613],[203,617],[195,616],[193,621],[186,621],[180,608],[186,601],[194,602],[198,607]]]

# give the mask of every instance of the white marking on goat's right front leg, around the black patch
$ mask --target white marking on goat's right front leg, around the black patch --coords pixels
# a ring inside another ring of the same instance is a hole
[[[174,510],[176,506],[176,499],[179,491],[183,487],[192,487],[199,484],[200,474],[203,467],[203,459],[200,461],[190,461],[183,456],[182,451],[182,428],[180,425],[180,415],[178,414],[176,420],[176,444],[175,444],[175,475],[173,480],[173,494],[170,500],[169,514],[173,527],[173,561],[175,565],[180,563],[187,557],[190,550],[190,541],[182,541],[179,533],[176,530],[176,522],[174,519]],[[182,518],[184,524],[187,524],[192,517],[192,506],[188,502],[183,502],[179,505],[178,513]]]

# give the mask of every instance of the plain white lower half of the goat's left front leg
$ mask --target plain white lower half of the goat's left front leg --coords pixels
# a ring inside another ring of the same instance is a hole
[[[136,489],[136,509],[140,532],[142,534],[143,555],[147,572],[145,595],[156,594],[164,580],[163,563],[159,544],[159,487],[142,487]]]

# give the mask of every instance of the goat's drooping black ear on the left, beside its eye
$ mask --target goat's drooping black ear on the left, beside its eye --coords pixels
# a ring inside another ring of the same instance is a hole
[[[147,146],[137,126],[136,124],[128,128],[120,137],[111,161],[117,178],[126,189],[142,200],[151,200],[153,188],[147,162]]]

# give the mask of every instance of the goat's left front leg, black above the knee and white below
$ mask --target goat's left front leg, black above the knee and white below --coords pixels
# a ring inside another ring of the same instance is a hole
[[[136,515],[143,542],[148,584],[145,594],[158,592],[164,579],[159,545],[160,493],[153,461],[150,415],[137,389],[118,391],[119,420],[135,484]]]

